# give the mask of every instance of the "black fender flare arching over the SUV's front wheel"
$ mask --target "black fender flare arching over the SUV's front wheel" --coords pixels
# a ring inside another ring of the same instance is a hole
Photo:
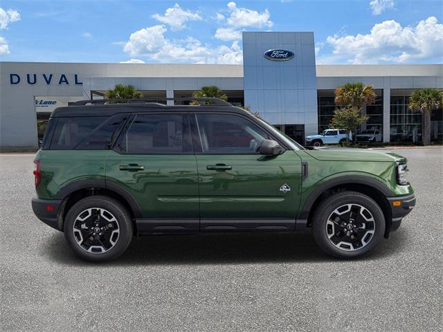
[[[322,183],[316,188],[316,190],[314,190],[314,192],[311,192],[311,194],[309,194],[305,203],[300,208],[300,212],[298,213],[297,219],[307,221],[309,212],[311,212],[312,205],[314,205],[316,199],[318,199],[318,197],[320,197],[320,195],[323,194],[323,192],[325,192],[326,190],[331,189],[332,187],[336,187],[337,185],[355,185],[355,184],[367,185],[368,187],[372,187],[381,192],[385,197],[394,196],[391,190],[384,183],[374,178],[362,175],[336,176],[326,181],[325,183]]]

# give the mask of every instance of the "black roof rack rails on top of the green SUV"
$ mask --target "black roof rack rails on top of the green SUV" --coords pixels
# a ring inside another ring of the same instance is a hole
[[[197,101],[202,106],[228,106],[233,107],[232,104],[221,100],[219,98],[196,98],[196,97],[183,97],[183,98],[166,98],[166,97],[149,97],[138,99],[91,99],[91,100],[79,100],[78,102],[69,102],[68,106],[83,106],[87,104],[149,104],[155,103],[159,100],[173,100],[174,102],[191,102]]]

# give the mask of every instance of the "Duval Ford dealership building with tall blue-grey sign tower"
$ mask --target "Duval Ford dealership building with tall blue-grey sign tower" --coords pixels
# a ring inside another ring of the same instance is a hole
[[[408,109],[408,98],[417,89],[443,89],[442,64],[316,65],[314,33],[296,32],[243,33],[243,65],[0,62],[0,73],[1,151],[36,149],[55,107],[101,99],[115,84],[150,98],[190,97],[215,85],[300,142],[327,128],[334,89],[347,82],[377,93],[363,110],[370,118],[362,129],[377,128],[384,142],[417,142],[422,115]],[[431,141],[442,138],[440,109],[431,116]]]

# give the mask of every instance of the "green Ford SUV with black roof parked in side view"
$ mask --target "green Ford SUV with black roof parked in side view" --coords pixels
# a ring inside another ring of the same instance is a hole
[[[305,149],[243,109],[198,102],[55,109],[34,161],[37,217],[89,261],[118,257],[136,234],[306,230],[354,258],[415,205],[404,157]]]

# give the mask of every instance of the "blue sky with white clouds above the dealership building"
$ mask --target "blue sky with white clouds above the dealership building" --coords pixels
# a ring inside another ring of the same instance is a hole
[[[443,2],[0,2],[0,61],[241,64],[241,32],[314,31],[318,64],[443,60]]]

